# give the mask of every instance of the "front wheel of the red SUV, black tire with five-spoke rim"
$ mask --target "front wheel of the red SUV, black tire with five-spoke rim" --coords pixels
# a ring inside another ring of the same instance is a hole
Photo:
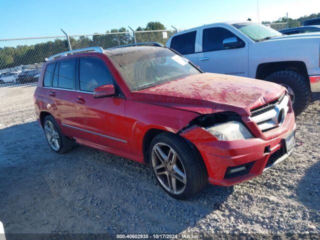
[[[170,132],[156,135],[150,143],[149,161],[152,172],[161,188],[171,197],[181,200],[191,198],[200,193],[207,183],[208,174],[204,162],[198,151],[192,149],[193,147],[191,143]],[[165,158],[160,159],[158,148],[162,153],[170,156],[162,167]],[[174,153],[177,157],[172,160]],[[182,177],[183,173],[184,177]],[[175,190],[172,183],[174,181],[170,176],[175,178]]]

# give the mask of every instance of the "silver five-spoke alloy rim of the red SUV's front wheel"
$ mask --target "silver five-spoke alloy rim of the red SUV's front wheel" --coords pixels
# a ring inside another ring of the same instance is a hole
[[[168,144],[156,143],[151,152],[151,163],[161,185],[173,194],[180,194],[186,186],[186,174],[182,161]]]

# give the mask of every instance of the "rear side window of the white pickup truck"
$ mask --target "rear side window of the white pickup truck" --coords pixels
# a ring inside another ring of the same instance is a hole
[[[190,31],[173,36],[170,47],[182,55],[194,53],[195,35],[196,31]]]

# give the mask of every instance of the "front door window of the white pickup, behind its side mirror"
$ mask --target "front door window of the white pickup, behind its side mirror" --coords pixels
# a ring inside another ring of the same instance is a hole
[[[223,40],[230,37],[236,37],[238,40],[236,47],[223,46]],[[217,51],[229,48],[244,47],[244,45],[244,42],[239,37],[223,27],[211,27],[203,29],[202,51]]]

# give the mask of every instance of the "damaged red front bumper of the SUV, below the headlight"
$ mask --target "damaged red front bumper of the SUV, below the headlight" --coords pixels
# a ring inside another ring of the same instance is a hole
[[[203,127],[192,126],[180,132],[199,150],[212,184],[229,186],[262,174],[284,160],[284,139],[295,129],[294,116],[286,130],[270,139],[250,138],[232,141],[217,140]]]

